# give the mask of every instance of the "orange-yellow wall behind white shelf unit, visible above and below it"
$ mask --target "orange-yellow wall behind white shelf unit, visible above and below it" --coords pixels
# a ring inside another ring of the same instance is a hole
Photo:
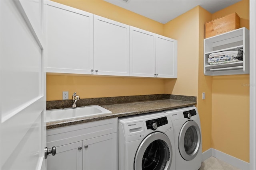
[[[216,19],[236,12],[249,28],[249,1],[242,0],[212,14]],[[212,148],[249,162],[249,74],[212,76]]]

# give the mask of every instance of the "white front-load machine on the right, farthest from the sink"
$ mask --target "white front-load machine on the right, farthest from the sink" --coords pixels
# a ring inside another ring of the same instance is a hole
[[[198,170],[202,163],[202,137],[197,108],[164,112],[170,114],[174,128],[176,170]]]

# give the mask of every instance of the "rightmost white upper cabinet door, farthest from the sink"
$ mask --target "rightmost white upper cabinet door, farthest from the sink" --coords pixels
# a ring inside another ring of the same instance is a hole
[[[156,35],[156,77],[177,78],[177,40]]]

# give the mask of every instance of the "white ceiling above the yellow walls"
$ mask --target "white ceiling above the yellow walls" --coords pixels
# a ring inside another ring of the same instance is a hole
[[[217,12],[240,0],[105,0],[111,4],[130,10],[160,23],[184,14],[196,6],[210,13]]]

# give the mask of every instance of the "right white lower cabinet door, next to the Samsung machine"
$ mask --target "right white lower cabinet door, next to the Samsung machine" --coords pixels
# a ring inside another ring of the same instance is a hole
[[[116,133],[83,141],[83,170],[116,170]]]

